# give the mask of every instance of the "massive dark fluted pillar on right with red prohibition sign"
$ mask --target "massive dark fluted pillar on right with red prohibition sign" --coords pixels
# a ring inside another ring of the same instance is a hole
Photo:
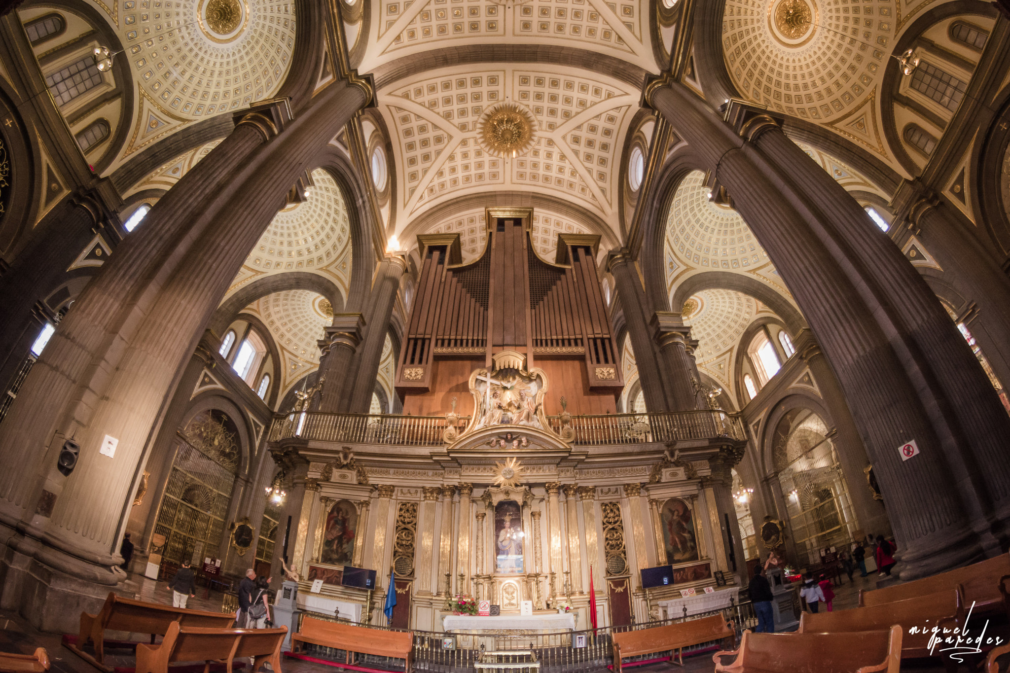
[[[680,84],[653,82],[646,98],[718,169],[817,335],[888,501],[902,578],[998,547],[983,498],[1010,488],[1010,461],[987,474],[977,463],[1010,421],[921,276],[769,115],[731,108],[737,132]],[[903,460],[912,439],[921,453]]]

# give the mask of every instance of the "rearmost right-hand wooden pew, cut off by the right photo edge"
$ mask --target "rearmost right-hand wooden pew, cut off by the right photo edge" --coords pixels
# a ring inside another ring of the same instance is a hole
[[[970,607],[973,602],[975,603],[973,614],[993,614],[1010,609],[1005,586],[1005,582],[1008,581],[1010,581],[1010,553],[883,589],[861,589],[860,607],[946,591],[961,584],[965,587],[965,604]]]

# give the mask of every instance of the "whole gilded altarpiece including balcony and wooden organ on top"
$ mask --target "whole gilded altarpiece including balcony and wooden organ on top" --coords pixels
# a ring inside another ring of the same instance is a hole
[[[486,248],[468,263],[459,235],[418,236],[402,416],[301,412],[275,425],[306,609],[385,625],[393,573],[394,626],[442,631],[463,594],[502,615],[529,601],[534,626],[571,605],[569,628],[585,629],[590,573],[600,625],[663,616],[682,589],[738,584],[735,419],[615,414],[623,381],[599,237],[561,234],[544,260],[531,215],[489,209]],[[671,585],[642,589],[639,571],[667,564]],[[376,590],[340,586],[345,566],[376,570]]]

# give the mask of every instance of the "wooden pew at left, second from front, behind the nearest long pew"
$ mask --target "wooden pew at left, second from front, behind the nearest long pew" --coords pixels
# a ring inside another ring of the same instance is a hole
[[[120,598],[109,591],[105,604],[98,614],[81,612],[81,633],[76,646],[67,647],[98,668],[111,672],[105,666],[105,632],[127,631],[137,634],[150,634],[150,642],[155,636],[164,636],[169,626],[180,624],[184,627],[204,627],[210,629],[227,629],[234,624],[234,614],[226,612],[205,612],[196,609],[184,609],[160,603],[147,603],[141,600]],[[84,652],[88,640],[95,645],[95,656]],[[130,645],[132,647],[132,644]]]

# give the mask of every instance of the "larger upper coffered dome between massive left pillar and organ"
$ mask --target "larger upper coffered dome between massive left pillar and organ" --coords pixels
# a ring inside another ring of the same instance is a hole
[[[288,206],[274,217],[227,296],[268,275],[311,271],[332,281],[346,299],[350,235],[343,195],[325,171],[313,171],[312,180],[315,186],[308,188],[307,201]]]

